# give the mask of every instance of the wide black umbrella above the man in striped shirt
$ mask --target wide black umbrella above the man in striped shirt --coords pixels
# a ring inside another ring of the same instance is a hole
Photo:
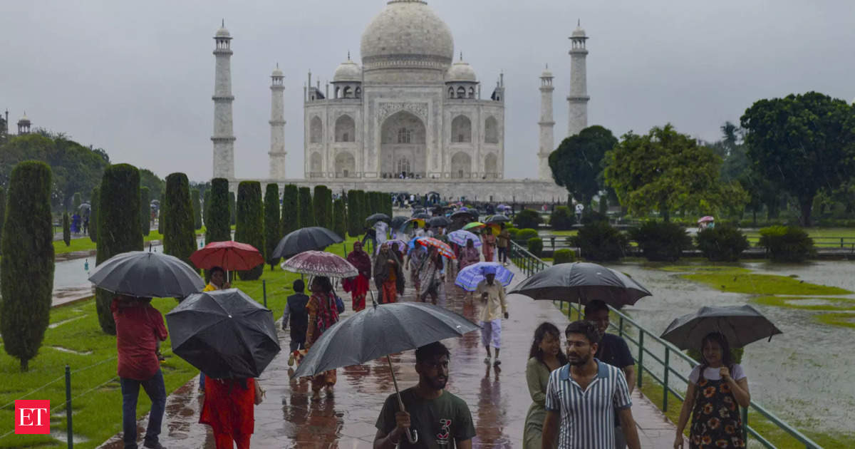
[[[510,293],[579,304],[600,299],[613,307],[632,305],[640,298],[651,296],[651,292],[628,275],[585,262],[552,265],[520,282]]]

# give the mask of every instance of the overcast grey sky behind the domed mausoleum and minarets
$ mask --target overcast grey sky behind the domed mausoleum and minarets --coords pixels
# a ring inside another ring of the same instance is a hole
[[[232,33],[235,174],[267,177],[269,75],[286,74],[289,177],[303,176],[306,72],[332,78],[384,0],[0,0],[0,109],[103,147],[114,162],[211,176],[213,35]],[[534,177],[539,76],[567,132],[568,36],[587,30],[589,124],[617,136],[665,122],[717,139],[752,102],[816,90],[855,97],[851,0],[429,0],[488,97],[506,86],[505,176]]]

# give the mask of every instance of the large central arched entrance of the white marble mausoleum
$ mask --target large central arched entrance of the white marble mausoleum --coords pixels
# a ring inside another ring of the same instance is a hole
[[[380,173],[386,178],[424,178],[428,168],[425,125],[416,115],[400,111],[380,128]]]

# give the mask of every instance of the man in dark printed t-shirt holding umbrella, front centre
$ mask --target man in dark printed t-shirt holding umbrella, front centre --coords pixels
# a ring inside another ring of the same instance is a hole
[[[401,448],[471,449],[475,426],[469,406],[445,391],[448,381],[450,352],[435,342],[416,350],[416,372],[419,383],[401,392],[404,411],[398,395],[391,394],[377,417],[374,449]],[[410,443],[408,434],[416,431],[418,440]]]

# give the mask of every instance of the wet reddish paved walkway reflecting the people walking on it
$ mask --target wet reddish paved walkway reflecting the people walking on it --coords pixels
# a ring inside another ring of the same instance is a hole
[[[524,279],[516,267],[509,268],[516,273],[515,283]],[[446,283],[445,289],[447,298],[440,301],[475,320],[477,301],[466,300],[451,282]],[[410,292],[404,300],[413,299],[409,286],[408,290]],[[522,447],[522,430],[531,405],[525,367],[534,328],[544,321],[550,321],[558,328],[564,328],[568,323],[567,317],[549,301],[533,301],[513,295],[508,302],[510,319],[502,323],[501,369],[494,369],[483,362],[485,351],[478,333],[444,341],[451,349],[451,374],[446,389],[469,405],[477,434],[473,440],[475,447]],[[345,304],[349,303],[349,298],[345,298]],[[288,336],[281,329],[279,332],[281,346],[287,348]],[[393,391],[386,360],[339,369],[334,396],[321,393],[320,400],[312,401],[308,381],[289,379],[287,358],[287,352],[281,352],[260,378],[267,395],[255,410],[256,428],[251,446],[371,447],[376,432],[374,422],[383,400]],[[414,363],[412,351],[392,356],[398,384],[402,388],[418,381]],[[161,435],[161,442],[168,449],[215,447],[209,427],[198,423],[202,397],[197,393],[197,385],[197,380],[190,381],[168,398]],[[673,445],[674,424],[637,391],[633,395],[633,413],[640,427],[643,447],[659,449]],[[145,421],[145,418],[139,421],[140,440]],[[121,434],[115,435],[102,447],[121,449]]]

